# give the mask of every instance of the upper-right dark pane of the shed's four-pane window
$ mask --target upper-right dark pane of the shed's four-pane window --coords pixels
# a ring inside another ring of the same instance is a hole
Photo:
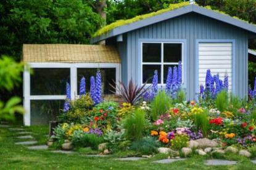
[[[178,63],[181,61],[181,44],[163,44],[163,62]]]

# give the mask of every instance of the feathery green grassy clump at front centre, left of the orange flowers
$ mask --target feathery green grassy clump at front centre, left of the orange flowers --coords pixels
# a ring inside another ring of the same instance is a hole
[[[146,126],[145,112],[141,109],[134,110],[133,114],[126,117],[122,124],[127,139],[141,139]]]

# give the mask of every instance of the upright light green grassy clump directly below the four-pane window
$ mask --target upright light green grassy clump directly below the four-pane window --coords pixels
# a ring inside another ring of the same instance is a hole
[[[153,120],[157,120],[157,118],[160,115],[165,114],[170,107],[171,98],[165,93],[165,91],[159,91],[151,103],[151,118]]]

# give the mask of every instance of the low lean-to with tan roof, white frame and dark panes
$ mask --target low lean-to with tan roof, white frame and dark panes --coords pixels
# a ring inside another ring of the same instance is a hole
[[[66,83],[71,98],[78,97],[81,77],[89,78],[101,69],[104,94],[110,94],[109,83],[120,80],[120,56],[110,45],[24,44],[23,61],[33,72],[23,75],[25,125],[47,124],[63,109]]]

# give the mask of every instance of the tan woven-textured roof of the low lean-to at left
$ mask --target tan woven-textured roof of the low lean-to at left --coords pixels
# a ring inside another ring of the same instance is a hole
[[[117,49],[110,45],[23,44],[28,63],[120,63]]]

